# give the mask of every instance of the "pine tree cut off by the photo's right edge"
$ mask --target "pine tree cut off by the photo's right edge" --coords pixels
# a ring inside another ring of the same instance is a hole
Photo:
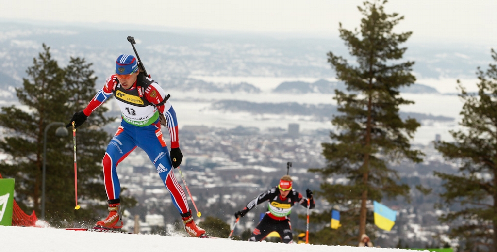
[[[492,58],[497,62],[494,50]],[[459,164],[457,174],[434,172],[445,189],[437,207],[453,207],[439,220],[453,227],[450,236],[463,243],[463,251],[497,252],[497,65],[487,71],[478,67],[477,74],[477,94],[458,81],[462,129],[450,131],[454,142],[436,144],[446,159]]]

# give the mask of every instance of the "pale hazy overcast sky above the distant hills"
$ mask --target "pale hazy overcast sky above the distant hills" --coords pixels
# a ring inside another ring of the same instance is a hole
[[[157,25],[338,38],[352,30],[363,0],[0,0],[0,21]],[[387,13],[405,20],[396,32],[412,41],[497,45],[497,0],[390,0]]]

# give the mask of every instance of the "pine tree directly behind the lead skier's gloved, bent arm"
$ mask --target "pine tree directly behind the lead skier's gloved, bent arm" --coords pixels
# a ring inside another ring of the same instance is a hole
[[[71,120],[73,114],[82,111],[88,102],[95,95],[95,82],[96,77],[94,71],[90,69],[92,63],[86,63],[84,59],[71,57],[69,64],[65,68],[65,75],[63,79],[64,88],[68,91],[65,98],[64,109],[68,111],[65,122]],[[87,202],[91,199],[98,199],[105,206],[106,194],[102,184],[102,158],[105,154],[105,147],[107,146],[110,136],[102,128],[108,123],[115,120],[115,118],[105,117],[104,114],[108,109],[104,106],[98,108],[88,117],[86,122],[78,127],[76,143],[77,143],[77,169],[78,169],[78,202]],[[72,127],[70,128],[72,131]],[[72,132],[71,132],[72,133]],[[71,134],[72,136],[72,134]],[[69,142],[73,146],[73,141]],[[68,161],[74,163],[73,148],[66,148]],[[48,159],[48,158],[47,158]],[[72,166],[74,167],[74,165]],[[74,169],[71,169],[70,175],[74,176]],[[74,184],[74,179],[72,180]],[[74,201],[74,186],[64,186],[71,189],[72,197],[69,200]],[[59,189],[55,189],[58,191]],[[126,190],[125,188],[122,191]],[[58,197],[58,193],[52,194],[54,200]],[[69,196],[69,194],[66,194]],[[124,206],[134,205],[136,201],[124,201]],[[128,205],[129,204],[129,205]],[[51,204],[47,206],[47,215],[51,216],[51,211],[56,211],[56,205]],[[91,204],[83,209],[83,211],[75,211],[76,218],[80,220],[94,220],[99,218],[96,211],[90,209],[100,209],[99,207],[92,206]],[[106,208],[106,207],[103,207]],[[90,210],[90,211],[88,211]],[[100,216],[101,217],[101,216]],[[93,222],[93,221],[90,221]]]

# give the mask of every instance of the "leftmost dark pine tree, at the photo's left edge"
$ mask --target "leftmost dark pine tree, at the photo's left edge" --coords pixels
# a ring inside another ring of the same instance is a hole
[[[0,142],[0,149],[9,154],[10,158],[0,164],[4,177],[15,179],[18,203],[22,206],[24,200],[35,199],[33,208],[39,214],[42,184],[42,153],[43,132],[47,122],[61,121],[60,114],[55,113],[54,107],[61,110],[61,104],[55,104],[52,98],[66,96],[62,88],[64,72],[56,61],[51,59],[49,48],[43,45],[44,53],[38,59],[33,59],[33,66],[26,73],[32,77],[32,82],[23,79],[24,88],[16,88],[19,102],[31,109],[30,113],[20,108],[3,107],[0,114],[0,125],[10,129],[9,136]],[[58,117],[58,118],[57,118]],[[69,138],[68,138],[69,139]],[[50,135],[47,137],[47,149],[64,145],[63,141]],[[53,152],[47,154],[54,160]],[[20,199],[20,200],[19,200]]]

